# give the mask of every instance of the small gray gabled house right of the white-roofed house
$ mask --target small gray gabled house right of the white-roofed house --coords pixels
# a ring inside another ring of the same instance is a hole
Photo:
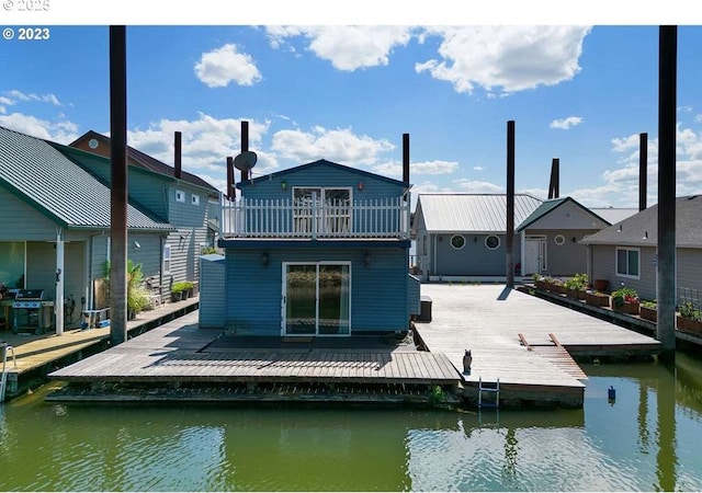
[[[544,200],[517,228],[523,274],[571,276],[587,270],[587,246],[579,241],[610,223],[573,197]]]

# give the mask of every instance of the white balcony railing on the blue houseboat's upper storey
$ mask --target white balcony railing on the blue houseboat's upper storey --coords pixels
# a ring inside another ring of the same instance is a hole
[[[225,202],[223,238],[409,238],[409,198]]]

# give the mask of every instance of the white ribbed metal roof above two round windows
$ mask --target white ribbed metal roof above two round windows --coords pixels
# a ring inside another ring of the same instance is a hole
[[[542,200],[528,194],[514,194],[514,228]],[[420,194],[421,210],[428,232],[505,232],[507,230],[507,194]]]

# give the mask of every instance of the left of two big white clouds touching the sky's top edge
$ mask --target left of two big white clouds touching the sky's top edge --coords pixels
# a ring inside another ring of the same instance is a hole
[[[287,38],[304,36],[307,49],[344,71],[387,66],[393,49],[411,38],[407,26],[268,26],[267,32],[275,48]]]

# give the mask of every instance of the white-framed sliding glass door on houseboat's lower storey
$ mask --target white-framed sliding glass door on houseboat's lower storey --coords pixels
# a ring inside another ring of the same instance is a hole
[[[351,264],[283,264],[284,335],[350,335]]]

